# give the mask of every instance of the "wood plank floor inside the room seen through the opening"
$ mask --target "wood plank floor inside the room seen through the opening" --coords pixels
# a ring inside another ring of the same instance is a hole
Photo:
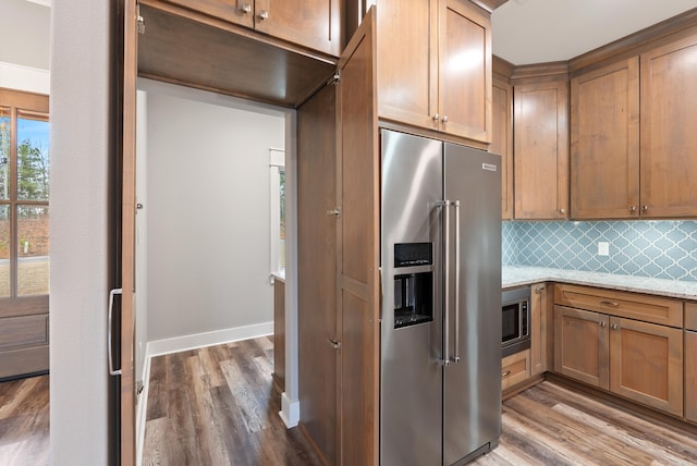
[[[270,338],[154,357],[144,465],[320,465],[286,429]]]

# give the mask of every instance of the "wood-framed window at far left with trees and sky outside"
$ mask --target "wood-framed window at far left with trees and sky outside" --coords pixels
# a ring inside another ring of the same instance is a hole
[[[0,90],[0,299],[49,293],[49,179],[48,97]]]

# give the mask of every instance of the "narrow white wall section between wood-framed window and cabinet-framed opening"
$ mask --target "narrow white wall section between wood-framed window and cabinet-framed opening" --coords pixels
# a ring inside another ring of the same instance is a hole
[[[109,8],[109,2],[94,0],[61,0],[52,8],[53,466],[108,464]]]

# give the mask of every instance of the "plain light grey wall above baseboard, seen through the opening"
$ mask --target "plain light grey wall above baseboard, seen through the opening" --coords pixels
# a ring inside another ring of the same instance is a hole
[[[281,109],[150,84],[148,341],[271,322],[269,148]]]

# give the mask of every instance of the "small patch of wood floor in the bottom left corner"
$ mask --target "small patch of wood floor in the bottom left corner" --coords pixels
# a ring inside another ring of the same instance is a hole
[[[0,465],[49,464],[49,376],[0,383]]]

